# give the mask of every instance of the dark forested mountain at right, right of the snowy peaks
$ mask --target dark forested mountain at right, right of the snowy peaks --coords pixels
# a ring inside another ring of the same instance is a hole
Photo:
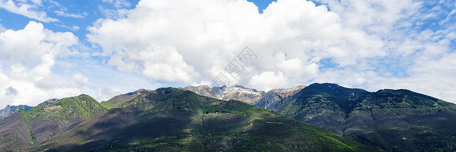
[[[260,106],[385,150],[456,149],[456,105],[409,90],[312,84],[281,102]]]

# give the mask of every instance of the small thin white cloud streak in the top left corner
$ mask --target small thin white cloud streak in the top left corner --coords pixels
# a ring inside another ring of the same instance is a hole
[[[8,12],[23,15],[25,17],[42,21],[45,23],[58,22],[56,18],[48,17],[46,12],[35,10],[41,5],[41,1],[32,1],[32,4],[28,4],[24,1],[7,0],[0,2],[0,8],[7,10]]]

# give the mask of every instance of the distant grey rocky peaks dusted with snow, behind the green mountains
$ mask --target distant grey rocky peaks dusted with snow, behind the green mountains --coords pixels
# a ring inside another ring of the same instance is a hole
[[[185,88],[180,88],[183,90],[189,90],[195,92],[199,95],[217,98],[219,100],[238,100],[242,101],[251,105],[255,104],[265,104],[265,103],[272,103],[274,101],[283,100],[284,98],[293,95],[300,89],[306,86],[300,85],[290,89],[273,89],[265,93],[264,91],[257,91],[255,89],[245,88],[243,86],[234,85],[232,87],[208,87],[206,85],[202,86],[188,86]],[[264,100],[271,100],[264,101]],[[258,103],[260,102],[260,103]]]

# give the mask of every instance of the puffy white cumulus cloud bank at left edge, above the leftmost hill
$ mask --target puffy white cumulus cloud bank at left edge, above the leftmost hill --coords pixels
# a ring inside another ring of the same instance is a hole
[[[49,98],[80,94],[90,85],[88,78],[76,73],[72,79],[53,73],[58,58],[75,52],[79,42],[69,32],[53,32],[43,24],[30,21],[24,29],[0,33],[0,106],[27,104],[34,106]]]

